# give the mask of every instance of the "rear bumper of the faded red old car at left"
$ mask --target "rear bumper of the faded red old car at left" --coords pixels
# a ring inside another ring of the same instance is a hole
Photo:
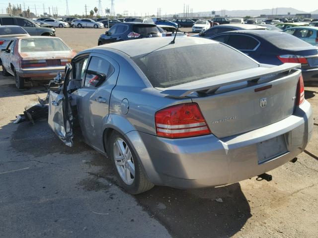
[[[20,77],[31,78],[32,80],[53,79],[58,72],[64,74],[65,66],[44,67],[44,68],[29,68],[20,69],[17,71]]]

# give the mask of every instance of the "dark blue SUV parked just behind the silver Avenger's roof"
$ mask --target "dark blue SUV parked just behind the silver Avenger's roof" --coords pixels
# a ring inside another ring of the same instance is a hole
[[[109,31],[100,35],[98,45],[135,40],[141,38],[160,37],[161,33],[155,24],[139,22],[122,22],[113,25]]]

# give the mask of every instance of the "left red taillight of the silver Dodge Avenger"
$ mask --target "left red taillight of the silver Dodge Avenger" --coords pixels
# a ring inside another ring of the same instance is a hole
[[[155,114],[157,135],[166,138],[184,138],[211,134],[196,103],[179,104]]]

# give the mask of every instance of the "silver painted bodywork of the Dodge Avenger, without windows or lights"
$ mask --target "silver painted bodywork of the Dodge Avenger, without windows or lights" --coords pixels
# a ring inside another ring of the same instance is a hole
[[[216,44],[200,38],[186,39],[178,39],[174,45],[164,48]],[[80,127],[93,148],[105,152],[104,143],[108,141],[104,132],[117,130],[132,146],[136,159],[153,183],[180,188],[216,186],[257,176],[290,161],[305,149],[312,135],[313,116],[307,101],[298,107],[293,100],[300,71],[292,68],[298,65],[279,67],[279,70],[290,67],[289,74],[277,73],[277,67],[273,67],[274,76],[266,75],[248,85],[243,82],[243,73],[237,72],[233,80],[241,78],[239,85],[224,85],[211,96],[194,92],[175,98],[153,88],[129,57],[149,53],[167,43],[164,38],[150,40],[114,43],[82,52],[111,60],[115,68],[111,80],[99,88],[81,87],[76,92]],[[263,72],[263,69],[257,70],[249,76],[257,77]],[[205,83],[208,86],[208,82]],[[255,88],[269,84],[272,88],[254,92]],[[180,86],[185,91],[196,89],[194,87],[197,85]],[[96,102],[98,97],[106,98],[108,103]],[[259,99],[264,97],[268,100],[267,106],[260,108]],[[129,102],[127,114],[122,107],[125,99]],[[198,103],[212,134],[182,139],[156,136],[155,113],[190,102]],[[228,118],[233,119],[213,123]],[[258,164],[257,144],[281,135],[284,135],[288,153]]]

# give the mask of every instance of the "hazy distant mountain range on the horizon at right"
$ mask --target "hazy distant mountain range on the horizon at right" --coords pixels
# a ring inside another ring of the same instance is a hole
[[[270,9],[261,9],[261,10],[226,10],[225,15],[228,16],[259,16],[261,14],[266,14],[266,15],[282,15],[282,14],[297,14],[297,13],[312,13],[312,14],[318,14],[318,9],[312,12],[306,12],[306,11],[301,11],[297,10],[292,7],[278,7],[278,8],[270,8]],[[221,10],[216,10],[215,11],[216,15],[221,15]],[[178,13],[179,17],[182,17],[183,12]],[[194,12],[194,16],[210,16],[211,11],[204,11],[204,12]]]

